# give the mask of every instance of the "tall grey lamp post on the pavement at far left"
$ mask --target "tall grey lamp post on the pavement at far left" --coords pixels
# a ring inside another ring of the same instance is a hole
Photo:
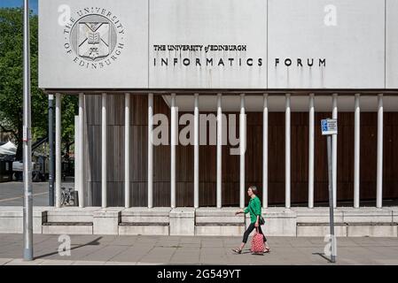
[[[30,48],[29,48],[29,4],[24,0],[24,80],[23,80],[23,241],[24,260],[33,260],[33,207],[32,207],[32,141],[30,134]]]

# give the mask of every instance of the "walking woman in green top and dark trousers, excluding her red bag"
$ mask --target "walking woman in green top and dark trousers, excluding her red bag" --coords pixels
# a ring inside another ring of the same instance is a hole
[[[247,195],[250,197],[250,201],[248,206],[246,207],[245,210],[238,210],[235,215],[238,215],[240,213],[247,213],[250,212],[250,226],[247,227],[246,232],[243,235],[243,241],[240,244],[240,247],[237,249],[232,249],[232,251],[240,254],[242,252],[242,249],[245,247],[247,238],[249,237],[249,234],[252,233],[254,228],[258,227],[259,233],[262,234],[262,237],[264,239],[264,253],[268,253],[270,251],[269,245],[267,243],[267,238],[265,238],[264,234],[261,231],[261,225],[264,224],[264,220],[261,217],[261,202],[259,197],[257,196],[257,187],[252,186],[247,189]]]

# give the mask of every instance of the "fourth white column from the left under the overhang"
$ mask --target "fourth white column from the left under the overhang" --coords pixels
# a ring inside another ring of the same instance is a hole
[[[124,207],[130,207],[130,94],[124,95]]]

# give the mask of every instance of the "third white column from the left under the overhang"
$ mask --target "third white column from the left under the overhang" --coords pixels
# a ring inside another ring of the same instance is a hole
[[[101,206],[106,205],[106,94],[102,94],[101,108]]]

